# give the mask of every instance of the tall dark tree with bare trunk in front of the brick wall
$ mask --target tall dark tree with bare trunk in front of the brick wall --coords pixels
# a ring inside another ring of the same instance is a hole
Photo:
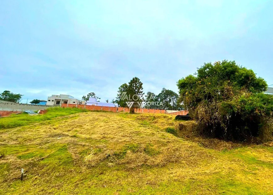
[[[135,113],[135,108],[138,108],[141,106],[143,99],[143,83],[140,81],[139,78],[134,77],[129,83],[128,83],[128,89],[127,89],[127,95],[130,97],[130,101],[133,102],[133,105],[130,108],[130,114]],[[136,96],[138,98],[136,98]]]

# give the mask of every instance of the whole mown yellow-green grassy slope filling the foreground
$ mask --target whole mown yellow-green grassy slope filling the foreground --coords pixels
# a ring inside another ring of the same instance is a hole
[[[273,194],[272,147],[206,149],[166,133],[173,119],[88,112],[2,129],[0,193]]]

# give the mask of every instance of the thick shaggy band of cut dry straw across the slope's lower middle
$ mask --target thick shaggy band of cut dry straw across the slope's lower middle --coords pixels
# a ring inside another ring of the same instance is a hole
[[[186,165],[194,166],[201,159],[207,158],[208,154],[190,145],[169,145],[162,147],[158,151],[150,145],[137,146],[135,149],[128,149],[128,144],[123,150],[91,149],[90,153],[84,157],[87,166],[96,166],[105,162],[107,166],[123,164],[128,168],[142,165],[163,166],[170,162],[183,162]],[[128,150],[126,150],[128,149]]]

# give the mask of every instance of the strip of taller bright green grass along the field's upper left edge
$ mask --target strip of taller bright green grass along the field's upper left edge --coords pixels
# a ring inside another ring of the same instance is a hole
[[[30,123],[41,122],[45,120],[50,120],[51,118],[55,118],[58,116],[67,116],[70,114],[76,114],[80,112],[88,112],[88,110],[79,108],[53,107],[47,109],[47,113],[43,115],[29,116],[27,113],[22,113],[18,115],[12,115],[10,117],[1,117],[0,129],[25,126]]]

